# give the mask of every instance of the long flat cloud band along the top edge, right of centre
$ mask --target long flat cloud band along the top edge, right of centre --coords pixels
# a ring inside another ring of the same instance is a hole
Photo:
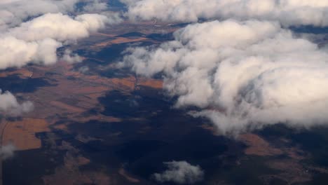
[[[121,0],[132,19],[197,22],[199,19],[277,20],[283,25],[328,25],[328,1]]]

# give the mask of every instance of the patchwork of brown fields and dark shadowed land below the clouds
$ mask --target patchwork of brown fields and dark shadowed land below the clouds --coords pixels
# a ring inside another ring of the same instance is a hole
[[[198,184],[327,181],[327,128],[278,124],[224,137],[192,109],[175,109],[159,78],[116,66],[129,46],[168,41],[179,27],[123,22],[67,46],[80,63],[0,71],[2,90],[34,103],[21,117],[1,117],[1,143],[17,148],[2,160],[3,184],[158,184],[151,175],[172,160],[200,165]]]

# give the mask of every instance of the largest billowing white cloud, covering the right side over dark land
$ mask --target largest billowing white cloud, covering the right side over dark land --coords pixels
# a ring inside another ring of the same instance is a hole
[[[328,54],[279,24],[227,20],[189,25],[158,48],[130,48],[123,65],[163,73],[176,107],[196,106],[221,134],[287,123],[328,123]]]

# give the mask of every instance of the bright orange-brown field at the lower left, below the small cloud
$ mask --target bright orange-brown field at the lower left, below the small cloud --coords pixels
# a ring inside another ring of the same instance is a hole
[[[22,121],[8,121],[2,136],[4,144],[12,143],[18,150],[39,149],[38,132],[49,132],[48,123],[43,119],[22,118]]]

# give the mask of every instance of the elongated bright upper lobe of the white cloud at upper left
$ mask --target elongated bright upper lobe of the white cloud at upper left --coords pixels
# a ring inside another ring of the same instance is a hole
[[[103,28],[107,18],[104,15],[83,14],[75,18],[62,13],[47,13],[19,27],[9,29],[4,36],[14,36],[24,41],[55,39],[67,41],[89,36],[90,32]]]

